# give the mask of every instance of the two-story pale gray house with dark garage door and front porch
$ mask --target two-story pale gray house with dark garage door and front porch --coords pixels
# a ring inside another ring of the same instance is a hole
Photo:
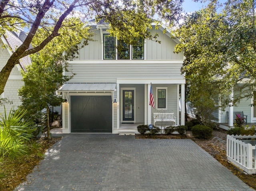
[[[154,124],[155,112],[172,112],[176,125],[184,125],[185,79],[180,73],[184,57],[174,53],[178,41],[170,31],[163,33],[164,26],[155,30],[153,24],[148,31],[158,33],[161,43],[138,39],[136,45],[126,45],[109,35],[106,23],[91,26],[94,41],[69,61],[70,72],[65,75],[76,75],[59,90],[66,100],[62,132],[138,133],[139,124]],[[117,51],[119,43],[123,49]],[[155,108],[149,105],[151,84]]]

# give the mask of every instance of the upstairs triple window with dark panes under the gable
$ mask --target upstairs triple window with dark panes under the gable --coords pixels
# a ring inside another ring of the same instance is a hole
[[[123,41],[116,41],[114,36],[103,35],[103,58],[104,59],[144,59],[144,39],[138,38],[133,45],[128,45]],[[116,46],[117,44],[117,46]],[[130,51],[132,50],[132,51]],[[117,53],[117,58],[116,58]]]

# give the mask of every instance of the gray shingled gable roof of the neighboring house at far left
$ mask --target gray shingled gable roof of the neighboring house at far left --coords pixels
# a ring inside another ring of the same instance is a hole
[[[10,47],[9,53],[12,55],[12,53],[20,46],[22,45],[22,42],[26,38],[26,33],[20,32],[19,35],[15,32],[6,31],[4,35],[2,35],[1,39],[4,44],[8,45]],[[26,71],[26,66],[31,64],[31,59],[29,56],[25,56],[21,58],[20,60],[20,67]]]

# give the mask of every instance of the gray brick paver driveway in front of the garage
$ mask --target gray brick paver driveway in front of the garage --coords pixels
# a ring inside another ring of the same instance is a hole
[[[254,191],[190,139],[68,134],[19,191]]]

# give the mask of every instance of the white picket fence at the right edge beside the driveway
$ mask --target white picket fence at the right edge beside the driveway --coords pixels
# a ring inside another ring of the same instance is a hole
[[[248,174],[256,174],[255,142],[256,136],[227,135],[228,160]]]

